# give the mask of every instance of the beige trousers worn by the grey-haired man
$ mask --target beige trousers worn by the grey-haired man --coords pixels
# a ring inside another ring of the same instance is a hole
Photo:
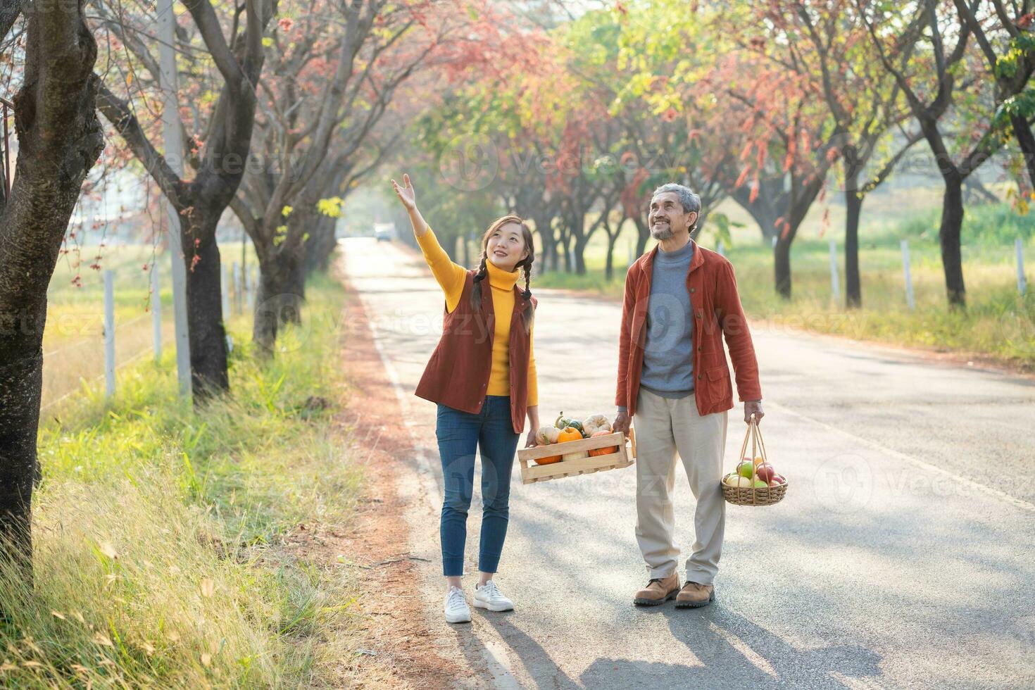
[[[637,541],[650,577],[668,577],[678,567],[672,503],[678,452],[698,501],[693,551],[686,560],[686,579],[701,584],[711,584],[715,579],[726,529],[726,501],[720,482],[727,417],[727,412],[699,415],[692,393],[672,399],[640,389],[633,418]]]

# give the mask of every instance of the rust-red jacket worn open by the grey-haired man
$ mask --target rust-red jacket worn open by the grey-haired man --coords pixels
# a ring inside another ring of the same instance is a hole
[[[647,340],[647,303],[657,252],[658,247],[655,246],[638,259],[625,276],[615,404],[628,408],[629,416],[635,414],[640,391]],[[733,265],[718,252],[694,243],[693,258],[686,273],[686,292],[693,311],[693,387],[698,413],[709,415],[733,408],[730,368],[722,350],[723,336],[730,348],[741,401],[761,400],[759,364],[747,319],[740,305]]]

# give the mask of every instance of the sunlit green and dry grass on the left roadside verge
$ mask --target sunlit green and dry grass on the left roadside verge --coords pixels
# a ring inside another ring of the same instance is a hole
[[[35,584],[0,573],[0,685],[350,683],[357,583],[345,554],[299,541],[347,527],[363,485],[333,417],[345,296],[318,276],[307,297],[272,361],[230,323],[232,394],[202,412],[170,351],[123,370],[114,399],[87,389],[43,420]]]

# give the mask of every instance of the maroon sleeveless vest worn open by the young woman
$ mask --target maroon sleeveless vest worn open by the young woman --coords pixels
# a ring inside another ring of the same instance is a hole
[[[493,370],[493,339],[496,336],[496,313],[493,310],[493,289],[489,277],[478,281],[481,309],[471,308],[471,290],[475,271],[469,270],[464,279],[460,303],[450,313],[445,311],[442,339],[432,353],[415,394],[432,402],[478,414],[489,389]],[[529,334],[525,332],[525,299],[514,286],[514,308],[510,314],[510,419],[515,433],[525,429],[528,403]],[[533,308],[536,299],[532,298]]]

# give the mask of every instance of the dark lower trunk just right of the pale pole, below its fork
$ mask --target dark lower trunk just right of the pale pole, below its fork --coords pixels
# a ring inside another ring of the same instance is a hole
[[[230,390],[227,372],[227,330],[224,327],[223,281],[215,226],[223,209],[195,209],[181,215],[181,242],[187,263],[187,329],[190,342],[190,387],[195,401]],[[197,243],[196,243],[197,240]],[[194,247],[191,251],[190,247]],[[197,261],[195,261],[197,258]],[[229,314],[227,314],[229,316]]]

